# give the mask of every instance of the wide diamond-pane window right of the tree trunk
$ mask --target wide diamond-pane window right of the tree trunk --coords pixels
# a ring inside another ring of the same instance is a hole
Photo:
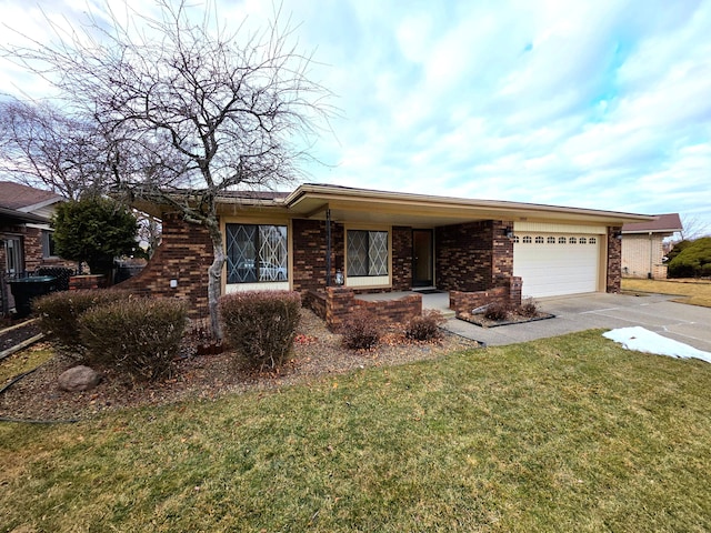
[[[227,282],[287,281],[286,225],[227,224]]]

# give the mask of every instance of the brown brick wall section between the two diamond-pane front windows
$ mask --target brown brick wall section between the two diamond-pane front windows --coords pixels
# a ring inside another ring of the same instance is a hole
[[[327,231],[320,220],[294,219],[293,232],[293,290],[310,291],[326,289]],[[343,271],[344,232],[343,225],[331,223],[331,284],[336,282],[336,271]]]

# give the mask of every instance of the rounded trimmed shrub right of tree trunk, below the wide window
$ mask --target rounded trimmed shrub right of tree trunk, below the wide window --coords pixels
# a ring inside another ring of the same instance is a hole
[[[287,361],[301,320],[298,292],[236,292],[219,306],[224,339],[250,365],[274,370]]]

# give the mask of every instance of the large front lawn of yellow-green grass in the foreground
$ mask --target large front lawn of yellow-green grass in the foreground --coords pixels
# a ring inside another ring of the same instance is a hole
[[[0,425],[0,531],[709,531],[711,366],[589,331]]]

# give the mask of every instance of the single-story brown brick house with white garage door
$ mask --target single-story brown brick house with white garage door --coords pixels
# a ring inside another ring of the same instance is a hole
[[[207,231],[167,205],[162,244],[127,288],[187,298],[207,310]],[[622,224],[652,217],[592,209],[302,184],[291,193],[219,201],[228,257],[222,293],[333,285],[357,293],[485,291],[522,279],[523,295],[619,292]]]

